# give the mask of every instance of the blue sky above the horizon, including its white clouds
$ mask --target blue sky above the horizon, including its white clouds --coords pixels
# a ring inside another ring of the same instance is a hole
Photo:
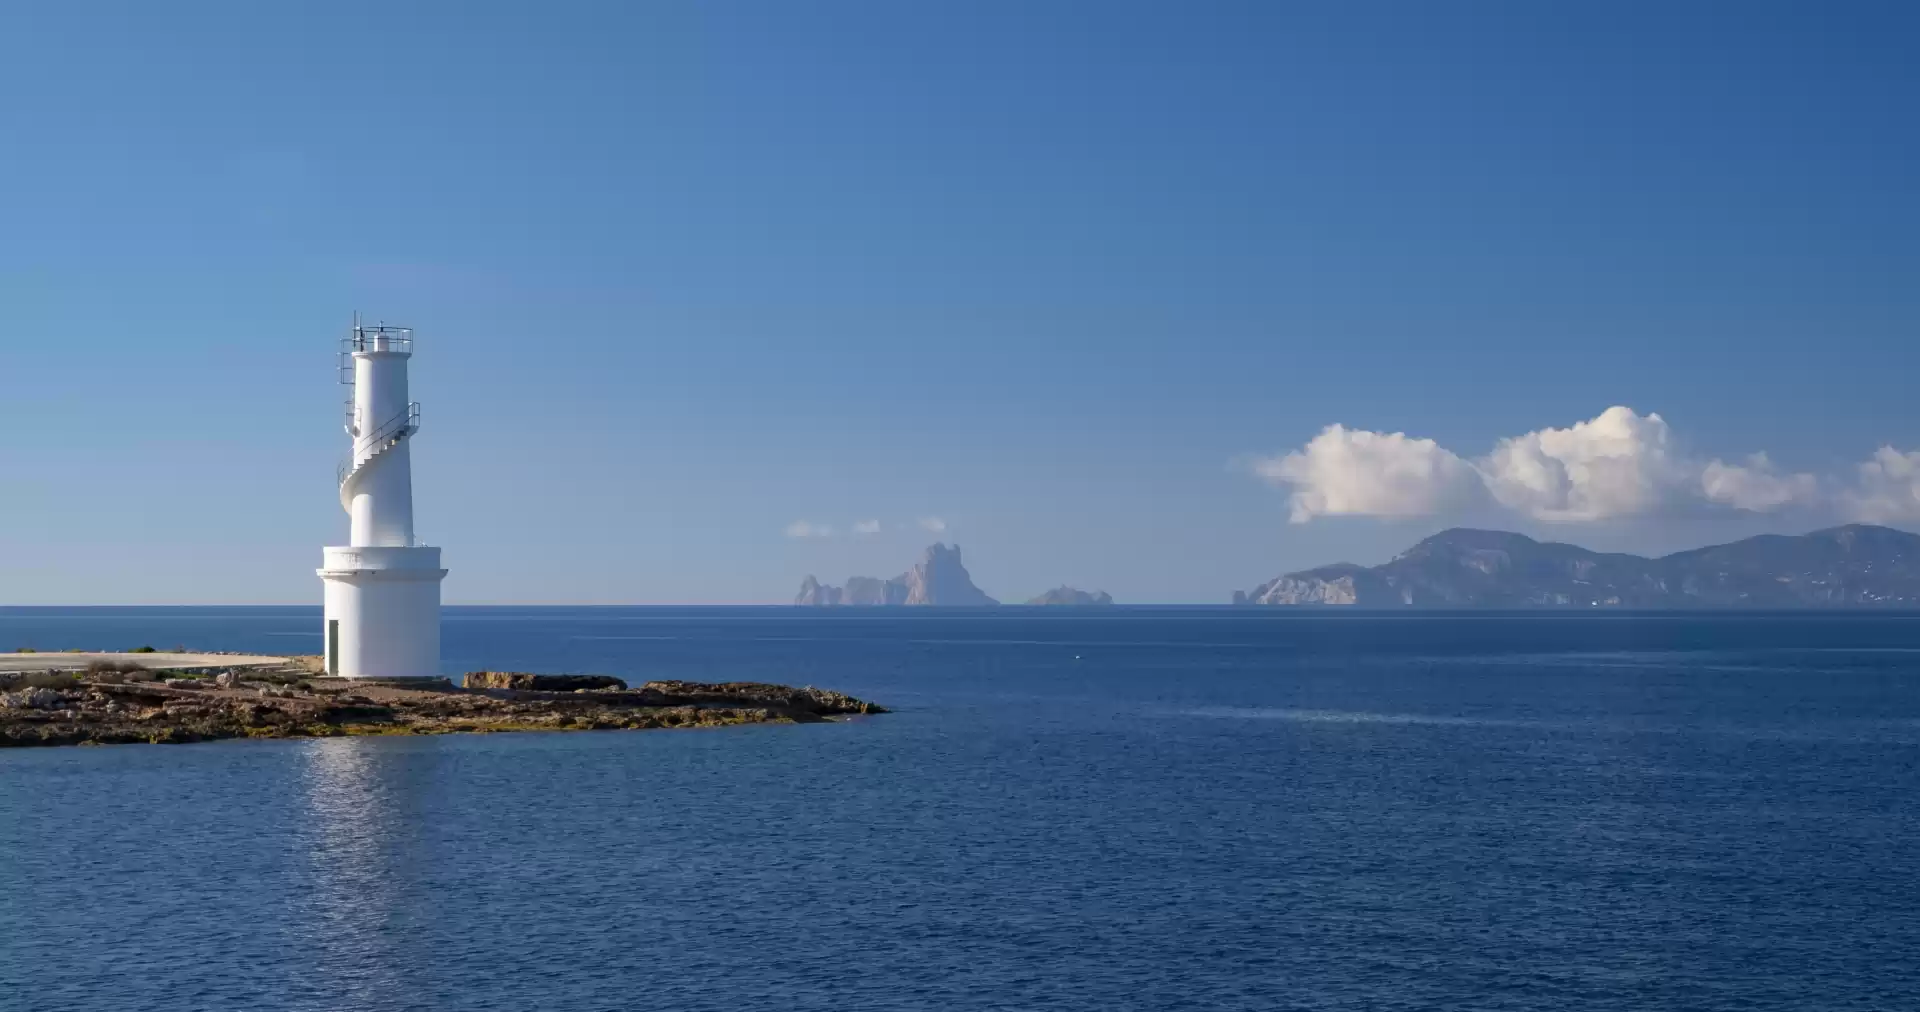
[[[989,593],[1121,601],[1453,522],[1920,526],[1916,42],[1901,4],[10,6],[0,601],[317,601],[355,309],[419,328],[449,601],[785,601],[924,518]]]

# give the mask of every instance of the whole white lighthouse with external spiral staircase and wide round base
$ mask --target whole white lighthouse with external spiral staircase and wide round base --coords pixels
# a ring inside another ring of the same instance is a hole
[[[340,348],[353,453],[340,465],[348,543],[321,549],[326,588],[326,674],[340,678],[440,676],[440,549],[413,536],[413,434],[420,405],[407,399],[413,330],[361,326]]]

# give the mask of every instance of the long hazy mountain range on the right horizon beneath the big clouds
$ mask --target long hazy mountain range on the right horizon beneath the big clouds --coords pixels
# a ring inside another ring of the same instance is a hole
[[[1920,536],[1849,524],[1763,534],[1659,559],[1453,528],[1379,566],[1288,572],[1236,605],[1354,607],[1916,607]]]

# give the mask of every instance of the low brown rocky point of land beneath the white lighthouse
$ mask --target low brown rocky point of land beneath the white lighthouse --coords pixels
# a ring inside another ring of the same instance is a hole
[[[363,684],[317,678],[303,659],[213,672],[156,672],[127,661],[15,676],[0,689],[0,747],[818,724],[887,712],[851,695],[764,682],[628,687],[605,676],[474,672],[461,687]]]

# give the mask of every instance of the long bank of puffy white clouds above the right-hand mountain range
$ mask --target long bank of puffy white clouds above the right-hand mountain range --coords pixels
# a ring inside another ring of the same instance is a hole
[[[1882,447],[1851,482],[1692,457],[1667,421],[1609,407],[1567,428],[1507,436],[1467,459],[1434,440],[1331,424],[1304,447],[1254,461],[1288,492],[1292,522],[1434,517],[1496,505],[1536,522],[1601,522],[1668,509],[1828,509],[1866,522],[1920,522],[1920,451]]]

